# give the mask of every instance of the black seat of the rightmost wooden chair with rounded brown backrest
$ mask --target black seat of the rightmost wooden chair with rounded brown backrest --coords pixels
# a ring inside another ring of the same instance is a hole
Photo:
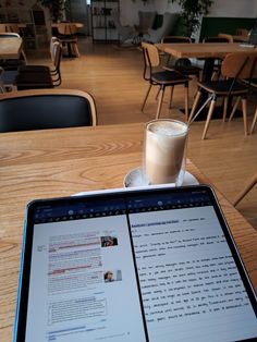
[[[245,85],[240,84],[238,82],[235,82],[233,85],[233,89],[230,91],[231,86],[232,86],[231,80],[228,81],[209,81],[205,83],[198,83],[198,85],[206,89],[209,93],[216,93],[217,95],[225,95],[225,94],[231,94],[231,95],[238,95],[238,94],[246,94],[248,91],[248,88],[245,87]]]

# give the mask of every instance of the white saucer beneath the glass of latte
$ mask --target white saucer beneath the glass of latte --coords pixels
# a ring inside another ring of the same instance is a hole
[[[189,173],[188,171],[185,171],[184,181],[182,185],[198,185],[199,182],[197,179]],[[123,186],[124,187],[136,187],[136,186],[147,186],[146,180],[144,179],[142,168],[136,168],[131,170],[124,178]],[[151,185],[149,185],[151,186]]]

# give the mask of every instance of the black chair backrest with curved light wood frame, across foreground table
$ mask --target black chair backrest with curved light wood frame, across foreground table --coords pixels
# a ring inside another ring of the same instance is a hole
[[[96,106],[85,91],[35,89],[0,95],[0,132],[96,125]]]

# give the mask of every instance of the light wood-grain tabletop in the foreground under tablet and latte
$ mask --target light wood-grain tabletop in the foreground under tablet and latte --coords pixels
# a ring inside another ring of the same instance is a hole
[[[140,164],[144,124],[0,134],[0,337],[12,341],[23,220],[35,198],[122,187]],[[208,180],[188,161],[187,170]],[[257,233],[218,192],[250,279],[257,289]]]

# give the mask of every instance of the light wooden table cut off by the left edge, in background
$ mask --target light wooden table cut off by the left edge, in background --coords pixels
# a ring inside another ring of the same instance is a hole
[[[0,37],[0,59],[19,59],[22,51],[22,38]]]

